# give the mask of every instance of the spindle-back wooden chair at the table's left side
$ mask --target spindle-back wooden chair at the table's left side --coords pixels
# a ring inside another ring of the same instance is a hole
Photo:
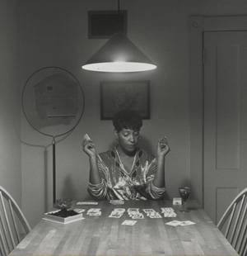
[[[0,186],[0,255],[10,254],[21,242],[21,236],[30,232],[21,208],[12,196]]]

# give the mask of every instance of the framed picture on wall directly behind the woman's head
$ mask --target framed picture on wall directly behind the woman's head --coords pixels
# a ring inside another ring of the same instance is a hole
[[[150,119],[150,81],[100,82],[100,119],[111,120],[123,109],[133,109],[142,119]]]

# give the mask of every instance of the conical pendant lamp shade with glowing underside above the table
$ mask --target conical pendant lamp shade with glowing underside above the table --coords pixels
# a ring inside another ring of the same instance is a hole
[[[137,72],[156,69],[156,65],[123,34],[115,34],[82,69],[100,72]]]

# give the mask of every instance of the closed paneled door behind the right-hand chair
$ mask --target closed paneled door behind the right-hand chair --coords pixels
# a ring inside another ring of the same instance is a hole
[[[247,187],[247,31],[204,32],[204,208],[215,221]]]

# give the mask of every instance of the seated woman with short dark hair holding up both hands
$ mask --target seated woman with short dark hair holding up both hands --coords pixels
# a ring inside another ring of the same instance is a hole
[[[158,200],[165,193],[165,137],[158,140],[156,158],[137,147],[142,117],[132,110],[114,115],[114,148],[96,154],[92,140],[82,142],[90,160],[88,192],[96,200]]]

